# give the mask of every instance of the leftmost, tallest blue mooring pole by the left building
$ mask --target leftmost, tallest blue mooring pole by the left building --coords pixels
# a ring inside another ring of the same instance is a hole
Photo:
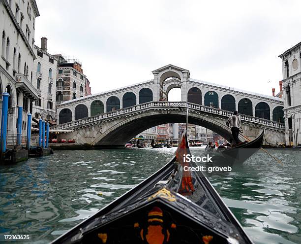
[[[9,94],[7,92],[2,93],[1,136],[0,136],[1,153],[6,152],[8,97]]]

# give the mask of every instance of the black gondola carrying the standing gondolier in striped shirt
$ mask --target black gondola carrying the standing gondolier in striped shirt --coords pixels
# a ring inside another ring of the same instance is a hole
[[[213,157],[213,163],[219,165],[243,163],[261,148],[265,137],[265,130],[266,128],[264,128],[262,133],[256,139],[249,142],[241,142],[233,147],[220,145],[216,148],[213,143],[208,143],[205,152]]]

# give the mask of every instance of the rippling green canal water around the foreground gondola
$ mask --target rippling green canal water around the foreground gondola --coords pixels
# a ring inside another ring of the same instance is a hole
[[[258,152],[211,183],[256,244],[301,243],[301,151]],[[192,149],[194,155],[204,151]],[[0,168],[0,234],[49,243],[167,163],[173,148],[55,151]]]

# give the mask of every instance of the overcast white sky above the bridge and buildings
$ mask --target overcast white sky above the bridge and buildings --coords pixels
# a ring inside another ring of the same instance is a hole
[[[301,41],[300,0],[36,0],[35,44],[82,62],[92,93],[153,78],[173,64],[190,77],[271,95],[278,55]],[[271,82],[268,82],[271,81]]]

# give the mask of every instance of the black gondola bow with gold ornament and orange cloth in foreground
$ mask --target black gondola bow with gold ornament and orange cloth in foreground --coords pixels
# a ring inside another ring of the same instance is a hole
[[[53,244],[251,244],[209,180],[184,162],[186,133],[163,168]]]

